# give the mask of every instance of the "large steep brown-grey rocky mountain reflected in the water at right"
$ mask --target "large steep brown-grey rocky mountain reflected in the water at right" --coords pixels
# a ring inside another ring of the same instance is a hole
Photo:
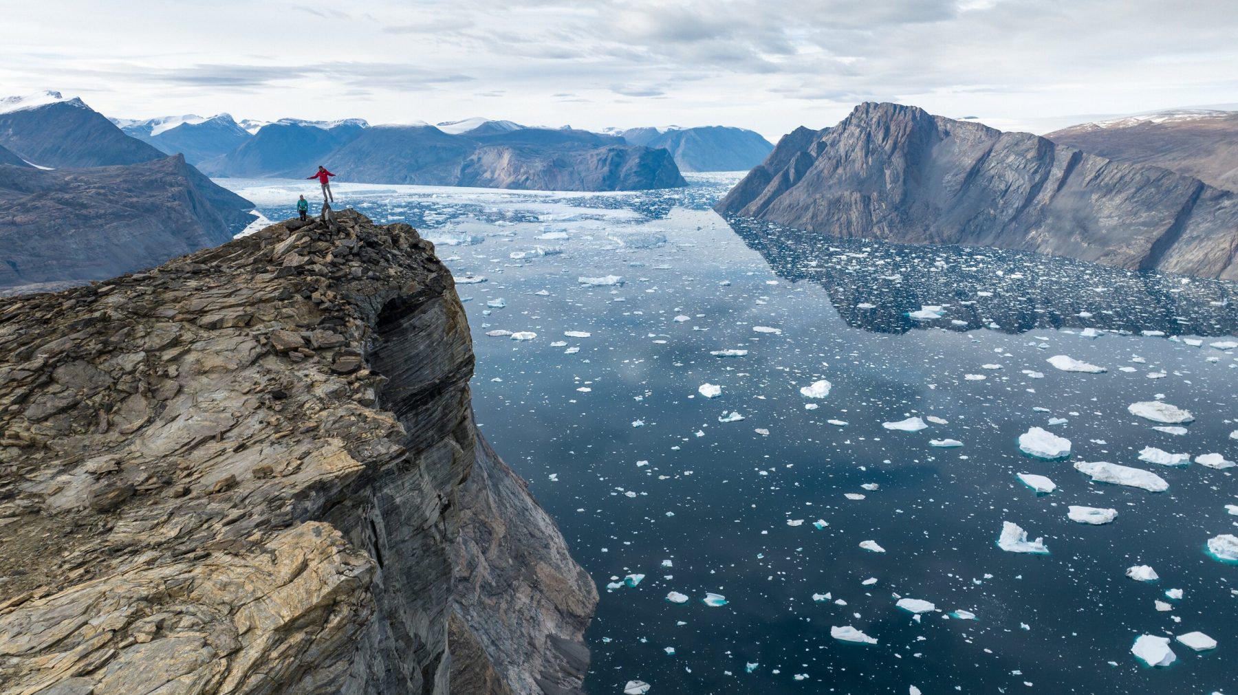
[[[716,209],[832,236],[1238,279],[1233,193],[898,104],[796,129]]]

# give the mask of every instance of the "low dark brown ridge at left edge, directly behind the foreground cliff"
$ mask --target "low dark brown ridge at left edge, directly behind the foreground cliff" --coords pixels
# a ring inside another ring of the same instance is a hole
[[[0,292],[80,284],[215,246],[254,205],[177,155],[128,166],[0,166]]]

